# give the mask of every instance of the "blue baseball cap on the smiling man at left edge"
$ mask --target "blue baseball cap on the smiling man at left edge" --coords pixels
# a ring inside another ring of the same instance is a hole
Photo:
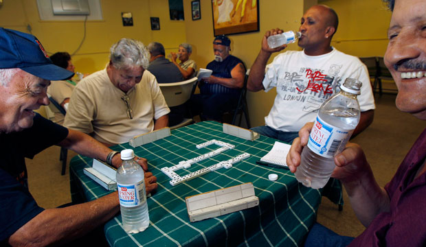
[[[19,68],[45,80],[65,80],[73,72],[52,63],[43,45],[31,35],[0,27],[0,69]]]

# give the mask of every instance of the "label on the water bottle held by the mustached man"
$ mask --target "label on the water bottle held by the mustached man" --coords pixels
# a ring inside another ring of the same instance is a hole
[[[308,147],[315,154],[333,158],[335,154],[344,150],[352,132],[353,130],[331,126],[317,116],[311,134],[309,134]]]

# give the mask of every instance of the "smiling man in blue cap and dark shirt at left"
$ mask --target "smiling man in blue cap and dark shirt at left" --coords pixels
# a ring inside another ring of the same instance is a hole
[[[27,188],[25,158],[60,145],[118,167],[120,154],[34,113],[49,104],[50,80],[74,75],[52,64],[36,37],[0,28],[0,44],[0,246],[69,244],[118,213],[117,192],[83,204],[43,209]],[[139,164],[147,169],[146,160]],[[147,193],[157,187],[155,182],[147,172]]]

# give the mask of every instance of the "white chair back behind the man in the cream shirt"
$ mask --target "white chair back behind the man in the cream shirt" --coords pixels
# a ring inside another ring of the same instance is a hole
[[[161,93],[166,99],[166,103],[169,107],[172,106],[181,106],[190,99],[194,88],[194,84],[197,82],[198,78],[194,77],[183,82],[172,82],[172,83],[159,83]],[[180,128],[192,124],[192,119],[184,118],[181,123],[176,124],[175,126],[170,126],[171,130],[175,128]]]

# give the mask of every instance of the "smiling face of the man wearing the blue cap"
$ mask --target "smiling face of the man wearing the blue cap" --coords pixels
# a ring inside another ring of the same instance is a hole
[[[30,128],[34,110],[49,104],[46,93],[49,84],[49,80],[19,69],[7,86],[0,85],[0,132]]]

